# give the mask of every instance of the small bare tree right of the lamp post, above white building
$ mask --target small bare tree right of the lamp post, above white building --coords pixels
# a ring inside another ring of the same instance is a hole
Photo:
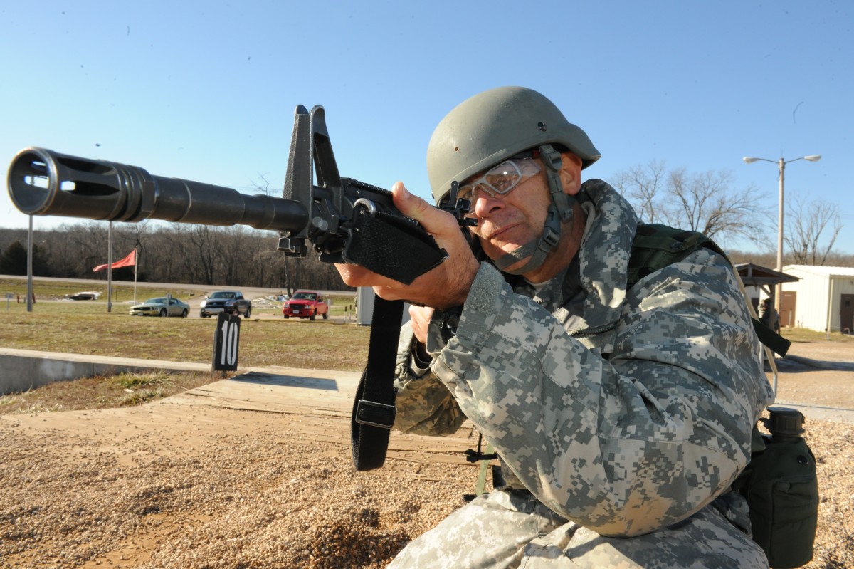
[[[783,238],[792,250],[795,264],[824,265],[842,229],[839,206],[824,200],[805,203],[799,196],[792,201],[794,204],[788,208],[787,232]],[[833,224],[833,228],[828,224]],[[829,230],[829,240],[827,244],[820,245],[819,240],[826,229]]]

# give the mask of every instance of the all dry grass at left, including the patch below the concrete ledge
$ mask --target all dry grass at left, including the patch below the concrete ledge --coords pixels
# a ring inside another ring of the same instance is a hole
[[[35,289],[36,303],[32,312],[27,312],[26,284],[0,279],[0,295],[3,295],[0,296],[0,347],[145,360],[211,361],[216,319],[132,317],[127,314],[132,304],[132,285],[114,285],[112,312],[107,312],[103,300],[63,300],[79,290],[82,290],[80,285],[75,283],[40,282]],[[137,290],[137,301],[167,292],[184,301],[200,294],[179,287],[145,288]],[[12,297],[7,299],[3,293]],[[352,297],[347,296],[333,296],[333,301],[333,318],[343,316],[344,308],[353,303]],[[240,367],[359,371],[365,366],[370,335],[367,326],[341,319],[284,320],[278,304],[264,308],[263,303],[253,302],[252,312],[253,318],[241,320]],[[192,389],[213,379],[219,376],[148,372],[57,382],[0,396],[0,414],[134,405]]]

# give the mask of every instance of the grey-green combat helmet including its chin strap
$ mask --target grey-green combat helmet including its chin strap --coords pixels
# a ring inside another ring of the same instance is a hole
[[[459,103],[436,126],[427,147],[427,174],[436,203],[447,194],[453,181],[462,182],[530,149],[540,150],[552,205],[538,241],[495,260],[495,265],[505,270],[533,255],[524,267],[512,273],[527,273],[538,267],[558,243],[560,222],[571,219],[575,200],[564,194],[560,184],[560,150],[569,150],[581,158],[582,168],[599,160],[599,150],[554,103],[524,87],[498,87]]]

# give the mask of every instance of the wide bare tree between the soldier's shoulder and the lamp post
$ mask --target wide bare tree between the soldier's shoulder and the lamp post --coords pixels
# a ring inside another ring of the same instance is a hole
[[[710,238],[758,239],[765,232],[767,215],[757,189],[735,189],[733,174],[726,170],[689,173],[650,161],[617,173],[614,186],[646,223],[691,229]]]

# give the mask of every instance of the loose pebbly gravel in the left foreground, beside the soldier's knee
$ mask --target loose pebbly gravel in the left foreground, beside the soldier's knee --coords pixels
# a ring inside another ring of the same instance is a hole
[[[139,446],[146,458],[130,468],[86,453],[100,445],[85,440],[53,446],[52,434],[3,428],[4,569],[383,567],[472,484],[466,466],[354,474],[340,447],[285,443],[276,430],[223,436],[193,456]]]

